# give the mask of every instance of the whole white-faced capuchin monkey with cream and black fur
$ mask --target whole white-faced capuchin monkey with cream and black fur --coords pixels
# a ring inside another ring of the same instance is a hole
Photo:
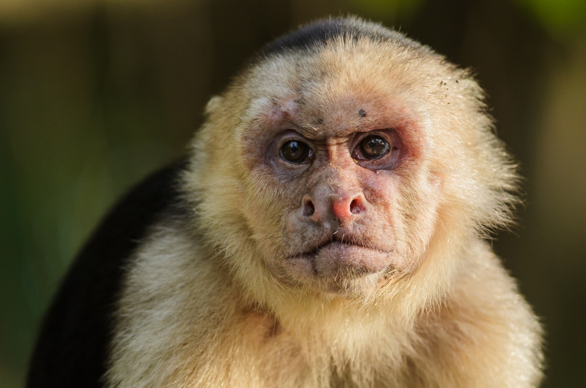
[[[28,386],[538,386],[540,325],[485,241],[519,178],[483,98],[356,18],[268,45],[81,250]]]

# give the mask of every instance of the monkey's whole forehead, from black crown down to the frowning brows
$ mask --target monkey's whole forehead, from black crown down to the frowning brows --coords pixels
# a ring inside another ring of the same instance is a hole
[[[319,50],[269,55],[253,67],[243,88],[250,91],[245,116],[281,118],[309,135],[368,130],[382,118],[389,122],[389,115],[413,117],[421,104],[412,102],[425,97],[417,94],[430,72],[414,51],[389,41],[339,38]]]

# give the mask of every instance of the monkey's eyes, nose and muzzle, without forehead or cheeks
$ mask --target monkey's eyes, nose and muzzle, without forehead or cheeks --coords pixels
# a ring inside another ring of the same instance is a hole
[[[291,179],[297,206],[281,221],[289,244],[279,264],[288,277],[346,288],[396,267],[394,178],[387,171],[400,159],[398,143],[396,132],[382,128],[322,139],[277,135],[267,149],[271,165],[294,174],[307,169]]]

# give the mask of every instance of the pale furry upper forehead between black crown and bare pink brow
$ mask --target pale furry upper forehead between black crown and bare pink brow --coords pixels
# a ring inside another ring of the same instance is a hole
[[[249,90],[273,98],[297,93],[299,97],[332,100],[356,91],[380,91],[405,83],[405,70],[421,73],[413,50],[394,42],[368,38],[336,38],[326,46],[293,50],[265,57],[252,68]]]

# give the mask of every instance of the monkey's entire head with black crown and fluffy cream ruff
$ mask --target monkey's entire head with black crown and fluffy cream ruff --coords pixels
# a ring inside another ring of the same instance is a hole
[[[454,255],[432,252],[509,221],[516,175],[478,84],[364,24],[268,46],[196,135],[202,233],[264,294],[392,295],[425,266],[449,277]]]

